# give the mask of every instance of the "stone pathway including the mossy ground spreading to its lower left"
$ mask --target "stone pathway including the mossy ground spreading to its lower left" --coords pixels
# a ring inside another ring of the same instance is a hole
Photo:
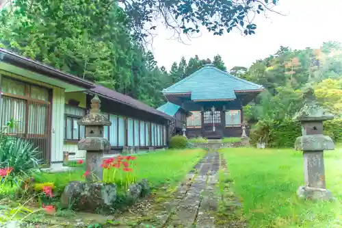
[[[104,227],[117,228],[246,227],[240,218],[234,216],[235,209],[240,206],[240,203],[234,196],[232,183],[228,181],[226,161],[223,155],[213,147],[176,189],[163,188],[158,191],[157,195],[137,203],[129,209],[129,212],[115,216],[116,218],[101,215],[96,215],[99,216],[98,218],[86,217],[88,220],[93,220],[92,224],[106,224]],[[85,221],[83,218],[79,220]],[[76,223],[77,220],[74,222],[68,225],[83,227]],[[57,220],[52,224],[61,225]],[[48,225],[47,227],[55,226]]]

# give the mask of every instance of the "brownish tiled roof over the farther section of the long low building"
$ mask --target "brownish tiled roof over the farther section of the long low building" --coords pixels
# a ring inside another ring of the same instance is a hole
[[[129,97],[120,92],[116,92],[114,90],[106,88],[105,86],[95,85],[95,88],[90,89],[90,91],[100,95],[101,97],[105,97],[109,100],[116,101],[125,105],[129,105],[138,110],[143,110],[145,112],[149,112],[151,114],[155,114],[163,118],[166,118],[168,120],[173,119],[172,116],[169,116],[168,114],[160,112],[159,110],[156,110],[155,108],[150,107],[146,105],[145,103],[142,103],[141,101],[137,101],[133,99],[132,97]]]

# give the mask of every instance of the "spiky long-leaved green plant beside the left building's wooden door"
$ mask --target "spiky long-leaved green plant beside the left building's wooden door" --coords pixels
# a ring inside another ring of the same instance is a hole
[[[3,136],[0,144],[0,168],[12,167],[11,175],[23,175],[32,168],[38,168],[40,151],[31,142]]]

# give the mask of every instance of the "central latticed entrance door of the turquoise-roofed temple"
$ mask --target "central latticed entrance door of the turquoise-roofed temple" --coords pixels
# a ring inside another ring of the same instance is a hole
[[[221,111],[207,110],[203,112],[203,135],[205,138],[222,138]]]

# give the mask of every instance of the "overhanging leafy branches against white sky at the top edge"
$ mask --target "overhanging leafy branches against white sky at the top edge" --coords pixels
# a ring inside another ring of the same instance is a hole
[[[205,26],[214,35],[221,36],[233,29],[245,35],[255,34],[254,17],[263,12],[275,12],[278,0],[119,0],[131,20],[137,38],[144,40],[155,29],[155,18],[174,29],[176,34],[196,34]],[[151,25],[150,25],[151,24]],[[146,29],[146,27],[150,29]]]

